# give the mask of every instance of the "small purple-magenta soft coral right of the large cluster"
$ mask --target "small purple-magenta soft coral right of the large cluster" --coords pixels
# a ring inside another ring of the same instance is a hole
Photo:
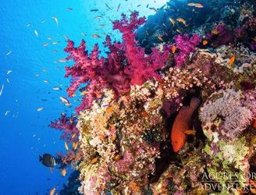
[[[177,55],[175,55],[176,66],[180,67],[186,64],[187,58],[190,52],[194,51],[198,44],[201,42],[201,38],[194,34],[190,37],[188,34],[178,34],[174,37],[176,48],[179,49]]]

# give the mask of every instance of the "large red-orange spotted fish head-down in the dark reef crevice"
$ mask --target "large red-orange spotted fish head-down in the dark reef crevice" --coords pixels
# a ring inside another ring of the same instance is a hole
[[[200,105],[200,100],[193,97],[190,101],[190,106],[183,106],[176,116],[172,125],[171,141],[173,151],[178,152],[184,146],[187,140],[187,135],[195,134],[194,130],[190,130],[192,123],[192,115]]]

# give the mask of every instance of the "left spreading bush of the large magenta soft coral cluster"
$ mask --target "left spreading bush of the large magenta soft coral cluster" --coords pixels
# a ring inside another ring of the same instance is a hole
[[[67,89],[68,94],[72,96],[82,84],[86,86],[81,90],[87,90],[87,95],[83,98],[80,107],[76,108],[76,112],[90,108],[92,101],[100,98],[98,94],[103,87],[112,88],[116,94],[129,88],[127,86],[129,76],[123,73],[121,66],[117,66],[117,64],[121,65],[123,58],[116,55],[118,52],[113,48],[109,37],[106,39],[106,45],[111,51],[108,58],[99,58],[98,44],[94,45],[91,55],[88,55],[84,40],[78,48],[74,47],[73,41],[68,41],[65,51],[70,55],[67,59],[72,58],[75,62],[72,67],[66,67],[66,77],[72,76],[71,85]]]

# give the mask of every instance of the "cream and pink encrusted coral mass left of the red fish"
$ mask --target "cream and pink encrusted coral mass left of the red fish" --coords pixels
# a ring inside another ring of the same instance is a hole
[[[142,191],[149,176],[155,174],[160,144],[168,137],[163,102],[175,101],[180,108],[183,94],[194,85],[202,86],[202,77],[200,71],[190,72],[187,66],[182,71],[171,68],[162,80],[132,86],[129,98],[121,96],[118,101],[112,90],[104,89],[101,104],[93,101],[92,107],[79,115],[80,148],[86,156],[79,166],[81,192],[101,193],[106,185],[113,194]],[[95,156],[97,161],[91,165]],[[101,168],[108,172],[104,181]]]

